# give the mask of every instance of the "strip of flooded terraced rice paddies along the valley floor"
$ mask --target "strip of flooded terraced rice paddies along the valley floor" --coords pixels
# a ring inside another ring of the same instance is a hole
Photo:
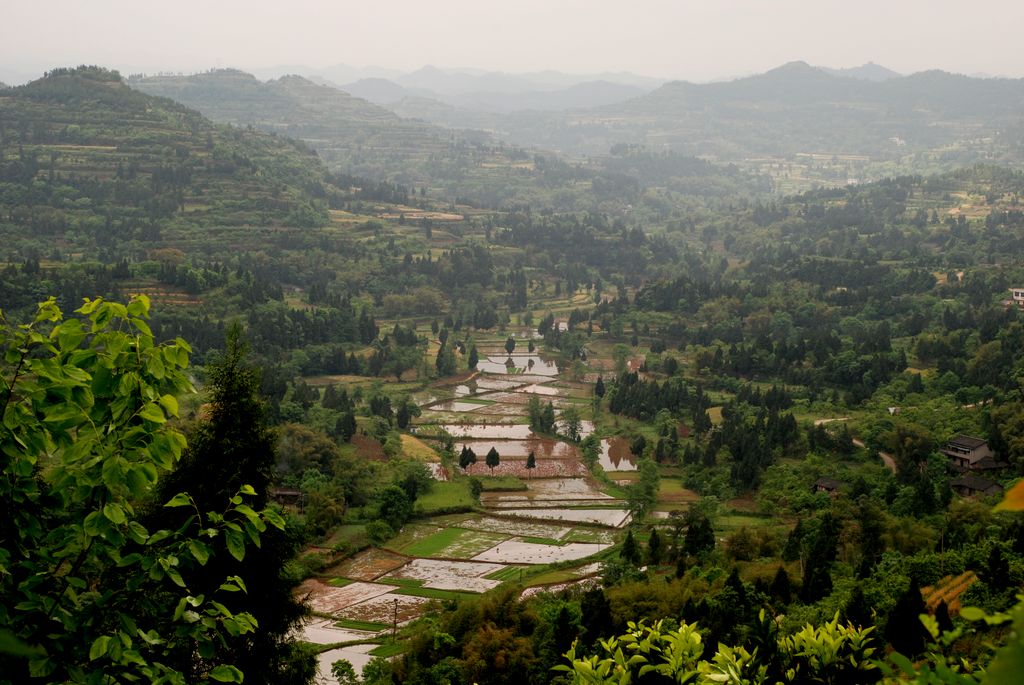
[[[560,383],[558,366],[539,354],[509,355],[498,345],[480,349],[486,356],[478,374],[417,396],[423,413],[409,442],[438,480],[461,474],[445,473],[428,454],[443,432],[456,438],[456,452],[466,445],[477,455],[469,475],[516,476],[526,489],[484,491],[485,513],[410,523],[386,550],[366,550],[330,569],[330,583],[307,582],[302,592],[313,610],[334,620],[309,624],[306,639],[318,644],[364,639],[359,636],[375,635],[372,629],[380,632],[395,619],[420,615],[432,599],[486,592],[517,582],[529,566],[588,559],[615,543],[616,528],[628,518],[623,503],[600,491],[575,444],[537,435],[525,422],[531,397],[559,410],[585,400],[588,388]],[[584,422],[582,429],[586,435],[594,426]],[[501,458],[494,470],[484,463],[492,447]],[[536,468],[526,469],[531,453]],[[635,468],[628,445],[625,454],[621,445],[604,453],[607,470]],[[542,571],[538,579],[550,586],[596,572],[597,563],[581,561],[579,568]],[[367,654],[347,650],[338,657],[355,663]]]

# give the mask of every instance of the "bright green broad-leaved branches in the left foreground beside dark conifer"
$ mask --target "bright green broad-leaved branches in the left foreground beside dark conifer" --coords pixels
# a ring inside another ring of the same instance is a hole
[[[0,320],[0,682],[184,683],[166,658],[182,649],[202,657],[198,680],[242,680],[218,654],[256,629],[221,601],[244,580],[190,586],[217,539],[241,559],[284,522],[246,505],[249,486],[219,512],[182,494],[174,525],[140,522],[185,447],[177,397],[195,392],[188,345],[155,344],[148,309],[86,300],[66,319],[50,299],[30,324]]]

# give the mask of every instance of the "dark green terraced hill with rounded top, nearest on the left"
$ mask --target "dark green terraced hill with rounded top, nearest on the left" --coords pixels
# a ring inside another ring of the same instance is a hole
[[[0,91],[0,177],[32,230],[68,251],[93,237],[187,250],[195,227],[321,226],[331,192],[301,142],[214,124],[96,67]]]

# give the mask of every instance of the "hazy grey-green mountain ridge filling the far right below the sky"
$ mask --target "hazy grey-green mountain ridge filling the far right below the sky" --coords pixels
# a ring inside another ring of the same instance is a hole
[[[869,80],[791,62],[732,81],[670,82],[623,102],[561,113],[483,114],[416,97],[389,106],[571,156],[629,144],[732,162],[771,174],[788,191],[977,162],[1019,167],[1022,103],[1019,79],[928,71]]]

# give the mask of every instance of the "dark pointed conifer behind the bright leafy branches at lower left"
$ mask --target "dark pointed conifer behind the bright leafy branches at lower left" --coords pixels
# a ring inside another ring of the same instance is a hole
[[[244,485],[255,491],[253,505],[265,507],[267,488],[276,461],[275,436],[270,431],[260,396],[260,372],[246,362],[246,346],[241,331],[228,333],[225,351],[207,368],[207,418],[188,436],[188,447],[178,467],[160,485],[159,501],[178,491],[188,491],[193,506],[212,510],[229,500]],[[324,440],[329,455],[336,448]],[[169,523],[158,509],[145,522]],[[293,595],[296,583],[284,569],[299,551],[301,540],[280,530],[267,530],[259,548],[245,560],[230,554],[242,544],[241,531],[228,531],[213,550],[207,575],[189,588],[197,595],[212,595],[218,579],[245,575],[248,593],[223,600],[231,611],[251,613],[259,631],[226,641],[232,659],[250,683],[304,683],[314,675],[308,656],[300,654],[293,629],[306,609]],[[194,659],[190,651],[179,654],[182,669]],[[306,662],[303,665],[302,661]]]

